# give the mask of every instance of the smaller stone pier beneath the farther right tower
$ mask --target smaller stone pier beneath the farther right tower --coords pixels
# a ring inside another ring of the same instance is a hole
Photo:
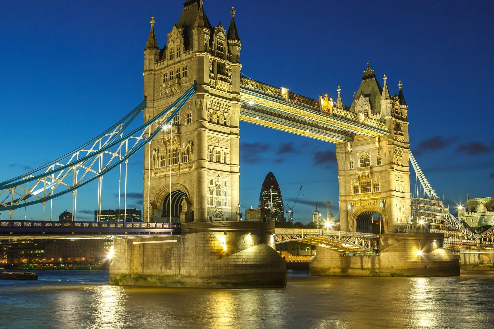
[[[347,256],[316,246],[311,275],[459,276],[459,260],[443,248],[442,233],[379,235],[379,254]]]

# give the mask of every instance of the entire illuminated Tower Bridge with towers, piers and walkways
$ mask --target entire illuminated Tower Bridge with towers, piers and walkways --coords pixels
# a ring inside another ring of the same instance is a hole
[[[283,287],[285,264],[274,247],[288,240],[317,246],[312,274],[458,275],[444,234],[400,231],[412,218],[409,162],[427,195],[440,202],[410,151],[401,83],[391,96],[387,76],[381,86],[368,63],[345,108],[339,88],[335,102],[327,95],[314,100],[241,76],[234,16],[232,7],[228,30],[221,23],[213,27],[202,1],[188,0],[162,48],[151,17],[145,101],[81,148],[0,183],[0,211],[12,215],[41,203],[44,220],[46,202],[70,192],[76,210],[78,188],[101,183],[106,172],[126,166],[144,149],[144,227],[138,229],[160,233],[156,225],[168,221],[180,223],[181,231],[178,237],[115,238],[113,284]],[[129,122],[141,111],[145,123],[129,132]],[[241,120],[336,144],[341,231],[288,232],[275,230],[273,223],[238,221]],[[373,214],[383,219],[383,234],[362,232]],[[458,240],[484,242],[451,213],[438,220],[442,226],[436,229],[449,227]],[[373,256],[340,256],[346,254]]]

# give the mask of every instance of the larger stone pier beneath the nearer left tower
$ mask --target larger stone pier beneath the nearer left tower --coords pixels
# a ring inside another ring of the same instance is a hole
[[[181,236],[115,238],[110,284],[193,288],[283,288],[286,265],[273,223],[182,223]]]

